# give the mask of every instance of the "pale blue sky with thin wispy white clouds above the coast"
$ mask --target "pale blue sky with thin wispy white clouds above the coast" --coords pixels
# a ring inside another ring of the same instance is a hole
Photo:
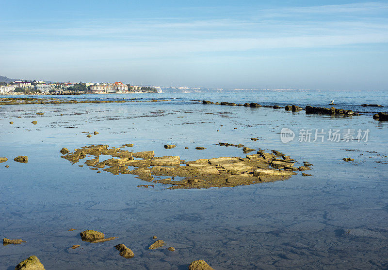
[[[2,1],[0,75],[388,89],[388,1]]]

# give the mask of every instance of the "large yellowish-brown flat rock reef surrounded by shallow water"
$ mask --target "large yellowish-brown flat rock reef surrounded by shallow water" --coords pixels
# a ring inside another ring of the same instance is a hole
[[[246,153],[251,151],[256,150],[244,149]],[[100,161],[101,154],[110,155],[112,158]],[[69,152],[62,158],[75,164],[88,155],[95,157],[84,162],[88,166],[114,175],[132,174],[151,183],[171,185],[167,189],[235,187],[287,180],[295,175],[296,171],[309,170],[312,166],[304,163],[294,167],[295,160],[276,150],[272,150],[272,153],[259,150],[245,157],[184,161],[180,160],[179,156],[156,157],[152,150],[129,152],[120,148],[109,148],[108,145],[91,145]]]

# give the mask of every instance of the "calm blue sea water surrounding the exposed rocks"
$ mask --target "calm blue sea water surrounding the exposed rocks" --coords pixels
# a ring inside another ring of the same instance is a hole
[[[46,269],[183,270],[196,259],[217,270],[388,268],[388,122],[372,119],[372,114],[388,111],[387,92],[55,97],[169,101],[0,105],[0,157],[8,158],[0,164],[0,236],[27,241],[0,247],[0,269],[14,269],[30,255],[38,256]],[[197,103],[204,99],[301,106],[328,106],[334,99],[336,107],[363,115],[331,117]],[[359,106],[364,103],[385,107]],[[293,141],[281,142],[283,127],[295,132]],[[312,131],[310,142],[298,141],[302,129]],[[316,129],[369,130],[368,141],[333,142],[324,134],[323,142],[314,142]],[[93,131],[99,134],[87,138],[81,133]],[[313,176],[298,173],[285,181],[234,188],[137,188],[147,183],[133,175],[98,174],[79,167],[83,161],[71,165],[59,152],[62,147],[133,143],[130,150],[154,150],[157,156],[184,160],[245,156],[242,149],[218,142],[279,150],[312,163],[314,169],[307,173]],[[165,150],[163,145],[170,143],[177,147]],[[27,155],[28,163],[14,162],[19,155]],[[344,157],[356,162],[344,162]],[[86,229],[118,239],[82,242],[79,233]],[[154,235],[166,242],[165,248],[147,249]],[[113,247],[119,243],[135,257],[119,256]],[[69,249],[74,244],[81,248]],[[176,251],[167,251],[169,246]]]

